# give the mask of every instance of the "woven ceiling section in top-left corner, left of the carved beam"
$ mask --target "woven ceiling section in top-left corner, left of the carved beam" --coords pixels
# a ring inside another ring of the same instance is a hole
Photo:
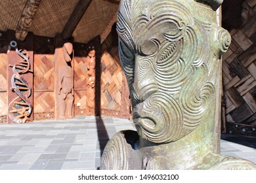
[[[26,0],[1,0],[0,2],[0,30],[15,30],[22,14],[22,10],[26,5]]]

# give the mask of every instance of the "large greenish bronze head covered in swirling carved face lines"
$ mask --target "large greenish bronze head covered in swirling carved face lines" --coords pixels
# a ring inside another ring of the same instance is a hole
[[[217,1],[198,1],[120,3],[119,57],[133,122],[148,141],[177,141],[215,112],[219,58],[230,35],[217,25]]]

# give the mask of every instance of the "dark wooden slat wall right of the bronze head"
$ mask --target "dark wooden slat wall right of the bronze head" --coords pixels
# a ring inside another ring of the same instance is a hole
[[[256,3],[246,0],[242,7],[242,25],[230,30],[223,56],[226,131],[256,137]]]

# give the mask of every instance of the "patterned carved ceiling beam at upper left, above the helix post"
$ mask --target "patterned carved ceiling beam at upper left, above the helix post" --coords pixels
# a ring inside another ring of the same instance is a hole
[[[15,37],[18,41],[24,41],[28,35],[28,29],[32,25],[33,18],[39,7],[41,0],[27,0],[25,8],[20,16],[16,27]]]

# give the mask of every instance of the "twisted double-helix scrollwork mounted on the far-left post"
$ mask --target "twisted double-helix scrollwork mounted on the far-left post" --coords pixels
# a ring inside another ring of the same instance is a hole
[[[15,45],[12,44],[11,46]],[[22,48],[16,48],[16,54],[18,54],[22,60],[15,63],[15,65],[9,65],[9,67],[12,67],[13,71],[11,90],[18,96],[9,104],[8,115],[12,122],[22,124],[30,121],[29,117],[33,109],[32,104],[28,100],[32,93],[32,88],[22,75],[33,71],[30,70],[28,51]]]

